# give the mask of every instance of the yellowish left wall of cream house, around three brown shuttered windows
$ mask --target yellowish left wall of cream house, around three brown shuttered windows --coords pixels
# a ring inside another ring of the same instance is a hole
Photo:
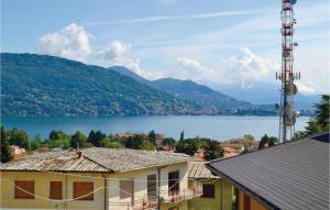
[[[103,187],[101,174],[76,174],[82,176],[95,176],[100,179],[94,179],[94,189]],[[40,197],[50,198],[50,181],[63,181],[63,199],[73,198],[74,181],[90,181],[90,178],[65,176],[54,173],[34,173],[34,172],[1,172],[1,209],[18,208],[18,209],[105,209],[103,189],[95,192],[92,201],[75,200],[69,202],[50,201]],[[34,180],[34,199],[15,199],[14,198],[14,180]],[[67,190],[66,190],[67,183]],[[67,194],[66,194],[67,192]]]

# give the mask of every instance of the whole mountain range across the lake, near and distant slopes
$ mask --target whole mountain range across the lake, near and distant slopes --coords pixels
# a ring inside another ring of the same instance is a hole
[[[227,93],[227,92],[226,92]],[[191,80],[145,79],[122,66],[1,53],[1,114],[275,114]]]

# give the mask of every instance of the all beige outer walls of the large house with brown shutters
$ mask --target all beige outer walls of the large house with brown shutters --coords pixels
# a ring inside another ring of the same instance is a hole
[[[173,164],[169,166],[165,166],[161,168],[161,191],[162,197],[167,198],[168,190],[168,173],[173,170],[179,170],[180,177],[180,189],[188,187],[187,179],[187,163]],[[69,173],[74,174],[74,173]],[[157,174],[157,168],[144,168],[132,172],[124,173],[116,173],[116,174],[106,174],[108,178],[107,184],[107,197],[106,206],[108,209],[118,209],[118,210],[127,210],[127,202],[131,202],[130,198],[120,199],[120,190],[119,190],[119,180],[117,179],[133,179],[134,180],[134,199],[143,198],[147,194],[147,176]],[[64,199],[73,198],[73,183],[74,181],[94,181],[94,189],[98,189],[103,187],[105,180],[102,178],[101,173],[82,173],[75,174],[78,176],[65,176],[58,173],[34,173],[34,172],[2,172],[0,174],[1,179],[9,179],[12,184],[14,180],[34,180],[35,181],[35,195],[41,197],[48,198],[50,197],[50,181],[63,181],[63,197]],[[79,176],[92,176],[90,177],[79,177]],[[158,179],[158,177],[157,177]],[[165,181],[164,181],[165,180]],[[67,189],[66,187],[67,186]],[[67,192],[67,194],[66,194]],[[20,209],[105,209],[105,189],[98,190],[94,195],[92,201],[82,201],[82,200],[74,200],[69,202],[54,202],[50,200],[44,200],[42,198],[35,197],[34,199],[15,199],[14,198],[14,187],[9,181],[1,181],[1,190],[0,190],[1,203],[0,209],[7,208],[20,208]],[[113,206],[114,202],[120,202],[119,206]],[[173,205],[163,203],[162,209],[166,209]],[[179,207],[179,209],[187,209],[187,202],[176,203],[175,207]]]

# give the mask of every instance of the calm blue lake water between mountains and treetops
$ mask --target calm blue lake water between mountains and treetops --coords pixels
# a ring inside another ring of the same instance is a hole
[[[307,117],[297,120],[296,130],[301,130],[308,121]],[[185,131],[186,137],[202,136],[224,141],[253,134],[257,140],[265,133],[277,136],[277,117],[76,117],[76,118],[2,118],[6,128],[16,126],[25,130],[31,137],[41,134],[48,136],[52,130],[63,130],[67,133],[90,130],[101,130],[107,134],[118,132],[148,132],[155,130],[166,136],[179,139]]]

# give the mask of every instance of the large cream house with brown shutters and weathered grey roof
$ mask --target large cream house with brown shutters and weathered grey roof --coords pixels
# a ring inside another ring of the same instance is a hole
[[[122,148],[35,154],[0,165],[0,207],[185,210],[201,195],[188,186],[189,161],[185,154]]]

